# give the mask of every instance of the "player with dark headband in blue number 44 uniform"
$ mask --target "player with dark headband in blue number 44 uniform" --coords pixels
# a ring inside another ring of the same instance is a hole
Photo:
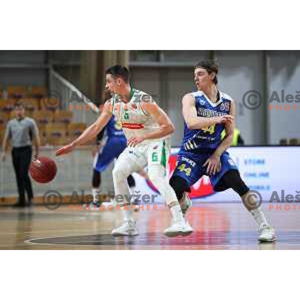
[[[274,241],[273,228],[261,208],[256,208],[255,197],[249,193],[226,151],[232,143],[235,104],[230,96],[217,89],[217,72],[217,65],[210,60],[202,60],[194,68],[197,91],[182,98],[184,135],[170,185],[185,213],[191,206],[187,196],[190,186],[201,176],[208,175],[214,191],[232,188],[239,194],[257,223],[258,240]],[[222,130],[226,133],[223,139]]]

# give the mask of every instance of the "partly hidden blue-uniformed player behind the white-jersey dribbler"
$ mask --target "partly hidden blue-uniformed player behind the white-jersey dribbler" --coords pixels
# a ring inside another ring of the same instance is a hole
[[[110,99],[110,92],[104,91],[104,99]],[[127,146],[127,139],[124,132],[114,116],[110,118],[106,126],[97,134],[96,137],[97,150],[93,161],[93,174],[92,174],[92,195],[93,204],[99,205],[99,187],[101,184],[101,172],[103,172],[109,163],[119,156],[120,153]],[[130,174],[127,177],[127,183],[130,188],[134,188],[135,180]]]

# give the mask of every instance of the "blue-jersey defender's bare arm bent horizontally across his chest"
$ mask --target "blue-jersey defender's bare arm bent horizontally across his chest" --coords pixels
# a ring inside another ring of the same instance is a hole
[[[224,123],[233,120],[233,117],[230,114],[213,117],[197,116],[195,99],[190,93],[185,94],[182,98],[182,114],[189,129],[201,129],[213,124]]]

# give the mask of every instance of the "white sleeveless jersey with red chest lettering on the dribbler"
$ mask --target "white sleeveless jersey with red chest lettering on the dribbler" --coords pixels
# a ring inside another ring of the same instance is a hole
[[[142,137],[147,132],[159,128],[159,125],[153,120],[151,115],[142,108],[141,98],[146,95],[146,99],[153,101],[147,93],[133,89],[131,98],[127,103],[118,99],[118,95],[112,98],[112,113],[115,115],[117,124],[122,127],[124,134],[129,137]]]

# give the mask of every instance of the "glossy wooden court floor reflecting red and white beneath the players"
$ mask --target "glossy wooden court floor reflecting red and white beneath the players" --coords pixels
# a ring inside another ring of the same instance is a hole
[[[194,204],[187,218],[195,231],[172,238],[162,233],[169,211],[163,205],[144,208],[134,212],[138,236],[112,237],[120,211],[0,206],[0,249],[300,249],[299,207],[269,210],[263,203],[277,231],[274,243],[257,242],[254,221],[240,203]]]

